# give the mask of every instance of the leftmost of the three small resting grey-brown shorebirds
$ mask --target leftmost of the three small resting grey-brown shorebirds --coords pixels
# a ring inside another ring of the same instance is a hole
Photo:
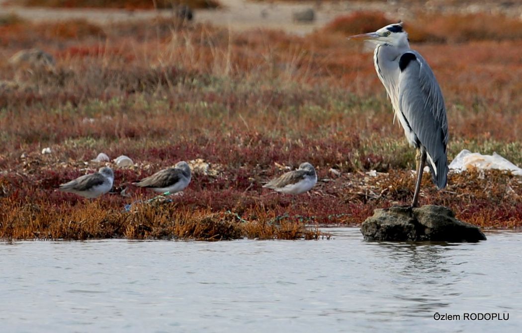
[[[109,167],[103,167],[98,172],[78,177],[75,180],[60,185],[58,189],[86,198],[97,198],[109,192],[114,182],[114,173]]]

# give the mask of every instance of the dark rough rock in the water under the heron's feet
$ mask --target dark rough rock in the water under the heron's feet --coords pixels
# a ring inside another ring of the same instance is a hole
[[[365,240],[478,242],[486,236],[475,225],[459,221],[442,206],[375,209],[361,226]]]

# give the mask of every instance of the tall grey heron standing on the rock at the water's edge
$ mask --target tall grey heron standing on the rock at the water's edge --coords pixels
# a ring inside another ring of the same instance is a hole
[[[437,188],[446,186],[448,121],[441,88],[428,63],[410,49],[402,22],[348,39],[376,44],[373,60],[377,76],[392,100],[407,140],[417,149],[417,183],[411,203],[411,207],[417,207],[426,161]]]

